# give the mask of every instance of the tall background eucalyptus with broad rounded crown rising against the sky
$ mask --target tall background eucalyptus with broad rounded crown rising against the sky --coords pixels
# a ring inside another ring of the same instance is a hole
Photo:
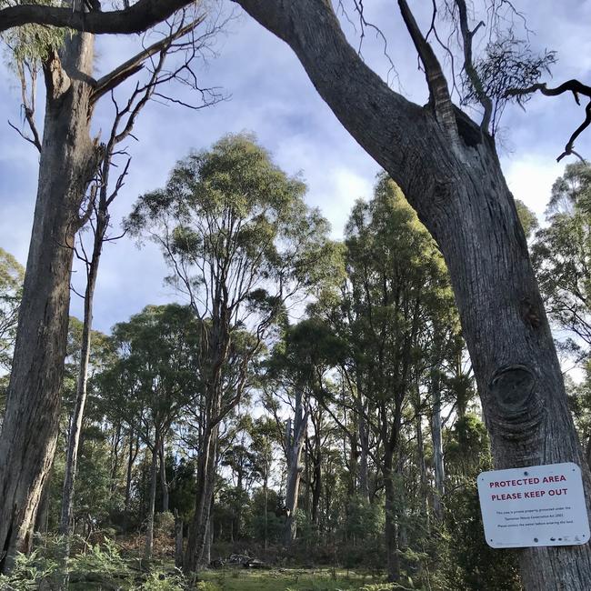
[[[203,327],[203,435],[187,571],[204,559],[220,422],[240,402],[252,362],[287,303],[329,274],[328,225],[306,206],[305,192],[251,136],[228,135],[177,163],[165,188],[140,197],[128,220],[161,245],[170,281]],[[243,327],[252,342],[237,343]]]

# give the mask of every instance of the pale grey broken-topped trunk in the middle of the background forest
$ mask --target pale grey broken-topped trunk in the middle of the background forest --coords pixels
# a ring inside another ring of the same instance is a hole
[[[304,409],[301,391],[295,394],[294,423],[289,419],[285,426],[285,461],[287,464],[287,484],[285,486],[285,526],[284,545],[290,546],[297,535],[297,523],[295,512],[299,496],[299,486],[303,466],[300,459],[306,440],[306,426],[308,422],[308,410]]]

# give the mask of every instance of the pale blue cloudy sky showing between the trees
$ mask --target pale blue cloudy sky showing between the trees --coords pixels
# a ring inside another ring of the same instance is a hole
[[[368,18],[381,25],[388,38],[388,54],[396,64],[399,79],[393,81],[416,102],[426,101],[423,76],[416,68],[416,55],[401,26],[396,2],[374,0]],[[422,25],[428,15],[416,6]],[[554,81],[577,77],[589,82],[591,71],[591,0],[516,0],[526,13],[534,47],[554,49],[558,64]],[[231,3],[223,3],[225,13]],[[175,161],[190,149],[211,145],[221,135],[243,130],[254,132],[261,144],[287,172],[301,171],[309,187],[307,200],[321,208],[342,235],[346,217],[357,197],[371,195],[378,166],[356,145],[336,121],[296,60],[291,50],[268,34],[247,15],[235,10],[235,19],[219,35],[217,57],[198,68],[204,85],[222,88],[226,100],[211,108],[189,111],[178,105],[148,105],[135,127],[139,142],[130,140],[133,155],[130,175],[115,202],[112,220],[117,234],[120,220],[128,213],[137,195],[165,183]],[[345,24],[347,35],[356,43],[355,31]],[[97,41],[96,70],[105,74],[133,55],[138,37],[101,37]],[[363,47],[364,57],[378,74],[386,77],[389,65],[383,45],[370,33]],[[0,89],[0,246],[25,264],[35,206],[38,158],[35,149],[22,141],[6,125],[10,118],[19,122],[19,92],[14,76],[4,66],[1,75],[7,84]],[[184,96],[187,91],[183,90]],[[109,126],[108,99],[95,117],[95,132]],[[42,115],[42,114],[40,114]],[[524,113],[509,107],[502,121],[501,155],[506,178],[514,195],[542,215],[550,187],[565,162],[556,164],[556,155],[572,130],[579,125],[583,109],[572,96],[536,97]],[[42,121],[42,118],[39,119]],[[591,133],[576,145],[591,157]],[[163,285],[166,269],[154,245],[138,249],[123,238],[105,245],[105,254],[95,296],[95,327],[108,331],[117,321],[127,319],[146,304],[170,301],[175,297]],[[74,284],[83,289],[81,273]],[[73,295],[73,314],[80,316],[81,302]]]

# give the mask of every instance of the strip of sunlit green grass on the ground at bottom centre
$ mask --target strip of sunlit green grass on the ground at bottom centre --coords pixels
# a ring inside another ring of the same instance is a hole
[[[332,569],[247,570],[223,568],[201,572],[199,578],[219,586],[221,591],[352,591],[379,579],[370,575]]]

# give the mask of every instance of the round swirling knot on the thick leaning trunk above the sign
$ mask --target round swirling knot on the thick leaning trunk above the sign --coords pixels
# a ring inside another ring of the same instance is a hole
[[[492,419],[499,436],[525,441],[538,435],[546,416],[537,392],[536,374],[527,366],[512,364],[496,369],[488,389],[492,396]]]

